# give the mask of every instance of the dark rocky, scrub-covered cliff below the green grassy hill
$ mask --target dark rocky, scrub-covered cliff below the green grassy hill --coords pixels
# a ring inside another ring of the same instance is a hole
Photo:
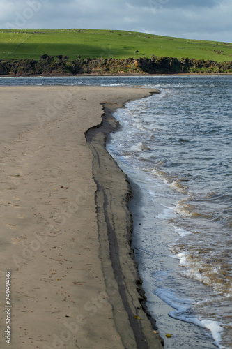
[[[79,74],[178,74],[232,72],[232,62],[203,59],[157,57],[127,59],[77,59],[43,54],[34,59],[0,59],[0,75],[79,75]]]

